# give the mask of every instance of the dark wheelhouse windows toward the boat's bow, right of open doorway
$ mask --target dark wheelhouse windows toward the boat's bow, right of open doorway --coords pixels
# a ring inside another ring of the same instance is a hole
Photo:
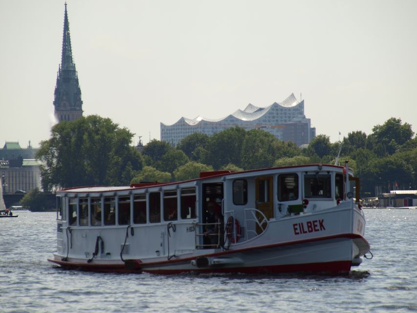
[[[343,198],[344,177],[342,174],[335,176],[334,199]],[[299,178],[298,174],[278,175],[278,201],[292,201],[299,199]],[[266,180],[259,180],[259,195],[269,195],[269,185]],[[247,203],[247,181],[236,179],[233,181],[233,204],[245,205]],[[304,197],[305,198],[331,198],[331,176],[330,174],[304,175]],[[262,197],[261,197],[262,198]],[[259,199],[263,202],[266,199]]]

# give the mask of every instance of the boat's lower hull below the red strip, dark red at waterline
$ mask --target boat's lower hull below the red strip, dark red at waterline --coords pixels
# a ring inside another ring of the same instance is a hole
[[[55,255],[50,262],[64,268],[100,272],[149,272],[157,274],[195,273],[319,273],[348,274],[352,266],[352,251],[357,243],[366,246],[361,236],[340,235],[330,238],[244,248],[233,251],[216,251],[200,256],[164,261],[122,262],[82,259],[62,259]],[[307,261],[307,262],[306,262]]]

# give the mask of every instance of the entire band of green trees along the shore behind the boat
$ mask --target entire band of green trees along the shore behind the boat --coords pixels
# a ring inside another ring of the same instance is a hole
[[[133,135],[109,118],[97,115],[63,121],[52,128],[36,155],[41,161],[42,187],[129,185],[141,181],[194,179],[201,171],[241,171],[308,163],[334,164],[339,153],[361,179],[361,196],[375,187],[417,189],[417,137],[411,125],[390,118],[367,135],[354,131],[333,142],[319,134],[306,148],[284,142],[262,130],[232,127],[208,136],[195,133],[176,147],[152,140],[141,152]]]

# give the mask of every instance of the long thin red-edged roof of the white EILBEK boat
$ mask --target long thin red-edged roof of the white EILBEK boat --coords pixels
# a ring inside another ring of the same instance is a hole
[[[321,167],[321,168],[320,168]],[[236,177],[253,177],[258,175],[258,173],[267,174],[267,172],[292,172],[296,170],[298,172],[302,171],[317,171],[317,168],[320,168],[321,171],[324,169],[329,170],[342,170],[343,166],[330,165],[330,164],[307,164],[307,165],[293,165],[293,166],[284,166],[284,167],[269,167],[263,169],[247,170],[242,172],[232,172],[232,171],[211,171],[211,172],[201,172],[200,177],[196,179],[184,180],[184,181],[170,181],[170,182],[142,182],[137,184],[131,184],[130,186],[84,186],[84,187],[72,187],[65,188],[57,191],[57,194],[62,193],[103,193],[103,192],[117,192],[117,191],[132,191],[137,189],[146,189],[149,187],[161,187],[169,185],[178,185],[179,183],[195,182],[198,180],[213,179],[217,177],[227,177],[231,178]],[[265,173],[266,172],[266,173]],[[349,169],[349,172],[352,174],[353,171]]]

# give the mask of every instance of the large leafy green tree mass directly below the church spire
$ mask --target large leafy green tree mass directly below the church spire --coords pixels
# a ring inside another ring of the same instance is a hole
[[[97,115],[58,123],[36,154],[44,190],[54,185],[119,185],[129,162],[132,171],[142,168],[141,156],[130,146],[132,136],[126,128]]]

